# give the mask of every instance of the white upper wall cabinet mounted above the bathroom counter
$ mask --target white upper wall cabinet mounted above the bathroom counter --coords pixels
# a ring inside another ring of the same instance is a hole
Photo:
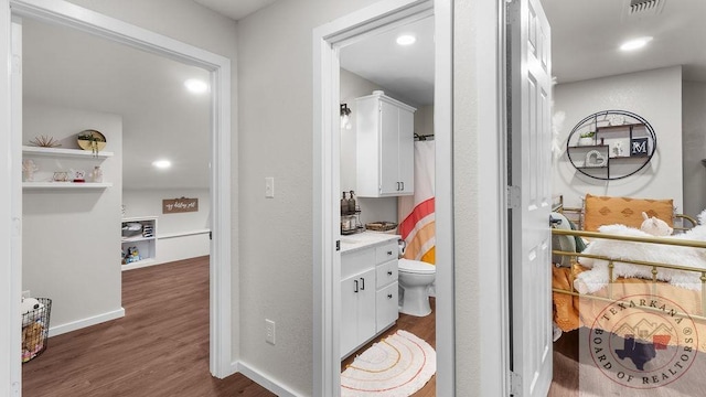
[[[356,194],[385,197],[414,193],[414,112],[382,92],[355,99]]]

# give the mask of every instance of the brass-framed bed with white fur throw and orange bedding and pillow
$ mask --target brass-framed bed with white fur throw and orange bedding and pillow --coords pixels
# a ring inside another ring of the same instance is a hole
[[[622,206],[608,205],[614,203]],[[654,237],[635,232],[638,219],[627,215],[645,208],[668,218],[677,234]],[[693,227],[696,221],[673,217],[673,211],[671,201],[587,195],[579,223],[592,230],[553,227],[553,311],[558,328],[567,332],[585,326],[706,351],[706,239],[694,238],[699,237]],[[613,217],[600,219],[607,214]],[[632,222],[632,227],[611,225],[618,222]],[[584,240],[590,242],[588,248],[576,249]]]

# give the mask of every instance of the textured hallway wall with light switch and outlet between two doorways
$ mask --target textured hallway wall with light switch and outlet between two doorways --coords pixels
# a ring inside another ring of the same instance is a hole
[[[240,358],[304,396],[313,378],[312,31],[373,2],[278,1],[238,21]],[[266,176],[275,198],[265,198]],[[277,323],[276,345],[265,342],[265,319]]]

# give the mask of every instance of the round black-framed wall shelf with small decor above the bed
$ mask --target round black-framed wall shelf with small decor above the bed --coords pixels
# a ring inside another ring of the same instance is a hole
[[[579,121],[566,141],[566,157],[579,173],[602,181],[634,175],[657,147],[654,128],[627,110],[602,110]]]

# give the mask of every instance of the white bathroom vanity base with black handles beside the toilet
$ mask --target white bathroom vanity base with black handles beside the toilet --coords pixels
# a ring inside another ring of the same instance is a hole
[[[397,321],[399,236],[365,232],[341,238],[341,358]]]

